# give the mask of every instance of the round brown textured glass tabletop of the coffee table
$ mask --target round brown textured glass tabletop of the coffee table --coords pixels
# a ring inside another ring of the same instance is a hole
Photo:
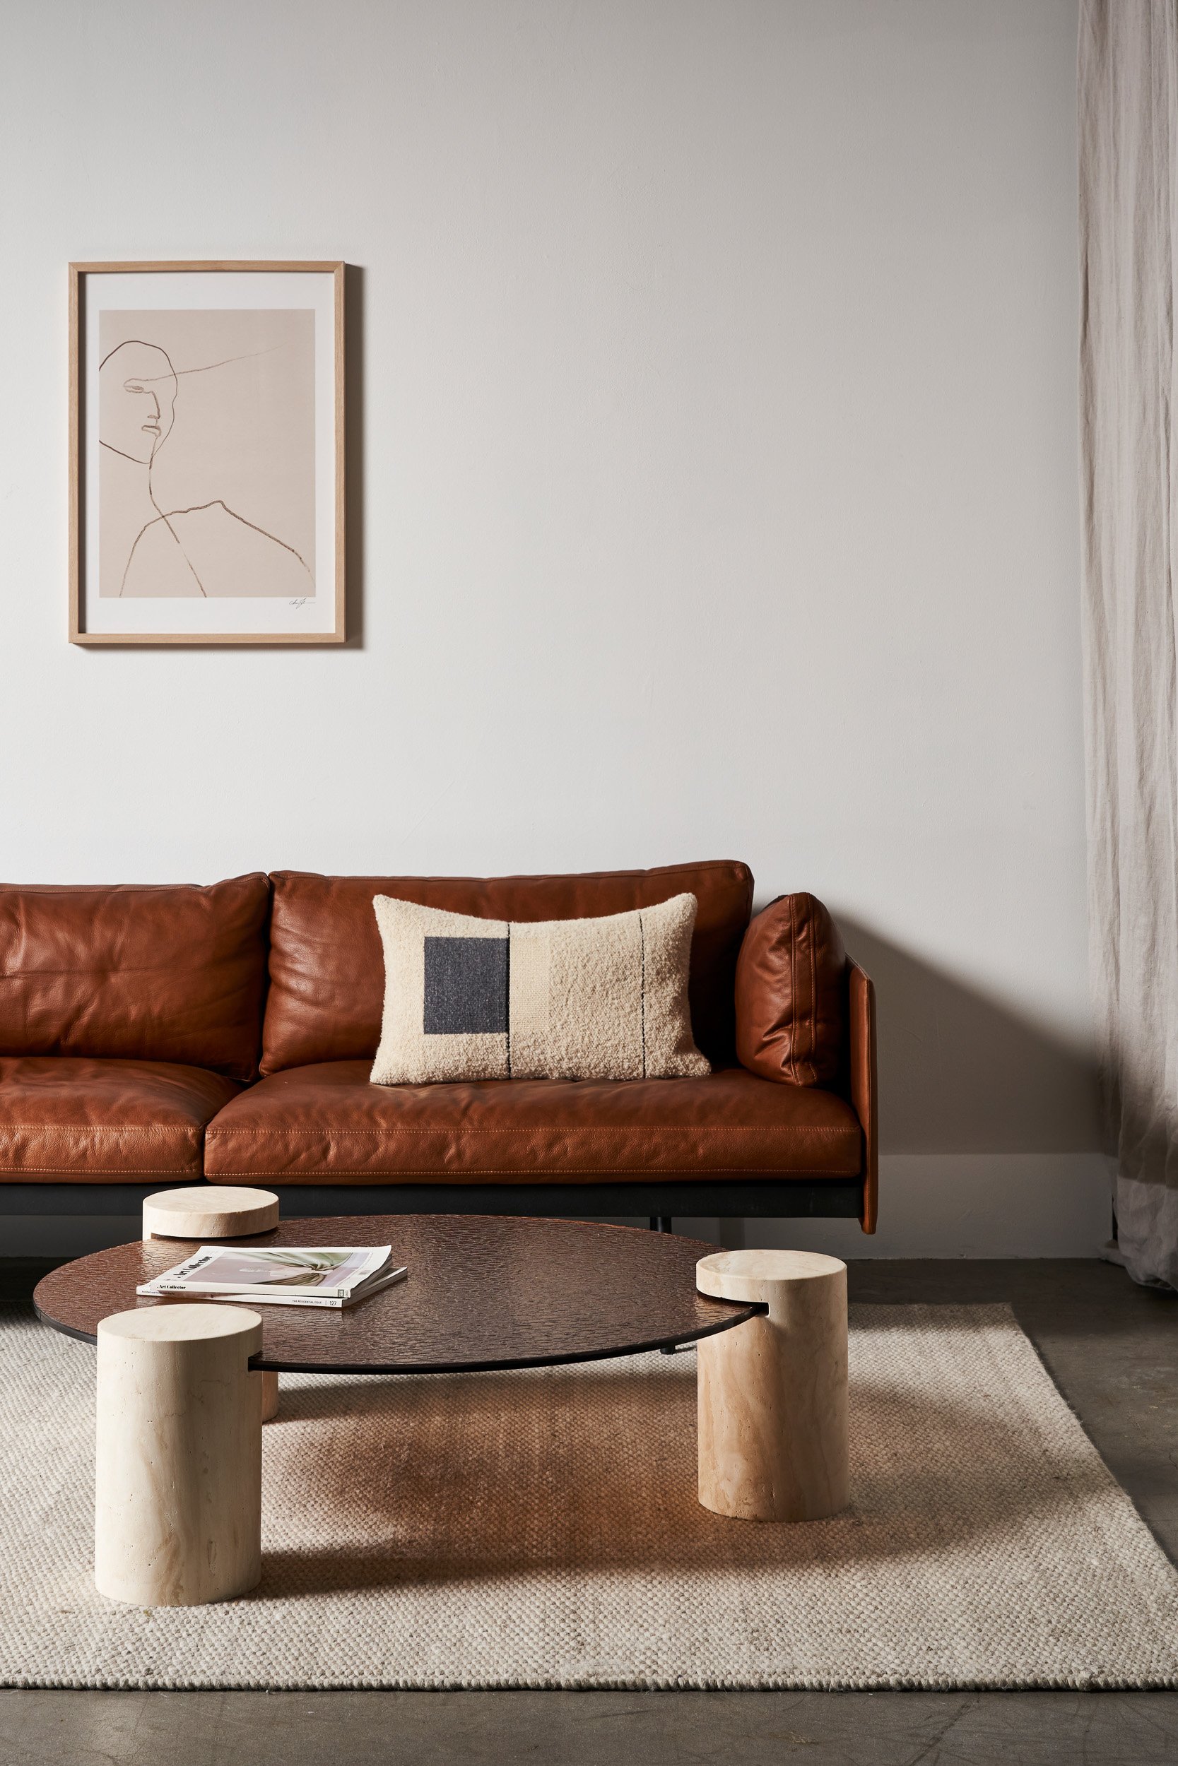
[[[37,1286],[37,1314],[94,1342],[99,1321],[113,1312],[173,1305],[138,1298],[136,1286],[180,1263],[196,1243],[136,1240],[65,1263]],[[392,1245],[394,1263],[410,1272],[344,1310],[260,1305],[263,1347],[253,1365],[274,1372],[422,1374],[595,1362],[694,1342],[765,1310],[696,1293],[696,1263],[715,1245],[623,1226],[343,1215],[286,1220],[233,1243]]]

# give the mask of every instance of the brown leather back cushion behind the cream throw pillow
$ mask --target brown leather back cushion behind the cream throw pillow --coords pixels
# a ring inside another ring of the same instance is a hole
[[[736,952],[752,908],[752,872],[733,860],[553,878],[323,878],[279,871],[270,918],[270,994],[261,1072],[311,1061],[371,1061],[385,994],[374,895],[487,920],[585,920],[652,908],[683,890],[698,901],[691,1019],[714,1063],[735,1051]]]

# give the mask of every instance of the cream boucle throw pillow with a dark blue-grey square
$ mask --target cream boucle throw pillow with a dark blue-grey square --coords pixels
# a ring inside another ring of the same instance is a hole
[[[477,920],[376,895],[385,1015],[373,1084],[678,1079],[696,897],[599,920]]]

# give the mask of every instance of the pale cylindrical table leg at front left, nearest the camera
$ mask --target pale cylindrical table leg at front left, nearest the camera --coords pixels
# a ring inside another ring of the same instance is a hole
[[[97,1332],[94,1581],[136,1607],[261,1577],[261,1379],[245,1307],[140,1307]]]

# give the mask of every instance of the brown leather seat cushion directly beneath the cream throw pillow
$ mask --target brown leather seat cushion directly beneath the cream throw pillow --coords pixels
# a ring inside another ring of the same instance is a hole
[[[373,1086],[367,1074],[367,1061],[323,1061],[242,1091],[208,1128],[207,1176],[592,1183],[862,1171],[862,1132],[850,1104],[740,1067],[706,1079],[433,1086]]]

